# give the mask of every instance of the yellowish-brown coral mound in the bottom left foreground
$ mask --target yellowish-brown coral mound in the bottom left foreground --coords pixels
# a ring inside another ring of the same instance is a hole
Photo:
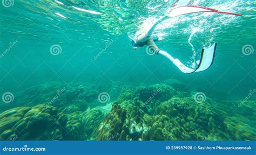
[[[45,104],[18,107],[0,114],[0,139],[86,140],[103,118],[97,108],[64,114]]]

